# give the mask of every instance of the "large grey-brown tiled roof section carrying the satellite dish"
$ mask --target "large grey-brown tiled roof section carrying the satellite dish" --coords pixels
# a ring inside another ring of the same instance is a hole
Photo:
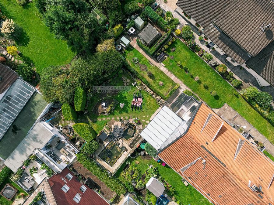
[[[252,56],[274,39],[274,1],[233,0],[213,21]],[[262,32],[262,24],[272,27]]]

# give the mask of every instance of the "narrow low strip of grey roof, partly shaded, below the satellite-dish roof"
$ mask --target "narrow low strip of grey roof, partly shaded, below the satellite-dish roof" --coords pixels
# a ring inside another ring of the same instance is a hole
[[[242,64],[250,58],[246,51],[231,41],[226,34],[218,31],[212,24],[206,28],[204,34],[238,63]]]

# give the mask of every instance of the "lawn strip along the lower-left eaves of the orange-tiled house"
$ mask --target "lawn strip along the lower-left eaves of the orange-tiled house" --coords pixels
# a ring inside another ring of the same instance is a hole
[[[153,158],[148,160],[142,159],[142,157],[140,156],[135,159],[128,158],[128,160],[130,160],[131,163],[139,161],[138,168],[141,170],[141,175],[146,172],[150,164],[157,166],[160,176],[162,176],[163,179],[167,181],[167,183],[171,184],[171,186],[175,188],[176,192],[174,196],[176,200],[179,200],[181,202],[180,204],[211,204],[204,196],[202,196],[201,193],[195,190],[191,185],[185,186],[184,183],[181,181],[182,177],[169,166],[159,165],[153,160]],[[125,165],[126,162],[115,173],[115,176],[117,176],[122,182],[126,182],[126,179],[121,176],[121,172],[124,169]],[[200,199],[202,199],[202,201],[200,201]]]

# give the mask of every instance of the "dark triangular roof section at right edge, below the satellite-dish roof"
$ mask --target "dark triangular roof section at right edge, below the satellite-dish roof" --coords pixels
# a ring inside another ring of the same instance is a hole
[[[274,86],[274,40],[246,64]]]

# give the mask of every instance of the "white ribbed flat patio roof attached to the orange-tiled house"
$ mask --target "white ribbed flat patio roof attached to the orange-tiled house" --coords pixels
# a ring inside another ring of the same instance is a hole
[[[185,122],[170,108],[164,106],[140,133],[149,144],[156,150],[160,149],[165,142],[173,141],[182,135],[185,130],[182,125]]]

